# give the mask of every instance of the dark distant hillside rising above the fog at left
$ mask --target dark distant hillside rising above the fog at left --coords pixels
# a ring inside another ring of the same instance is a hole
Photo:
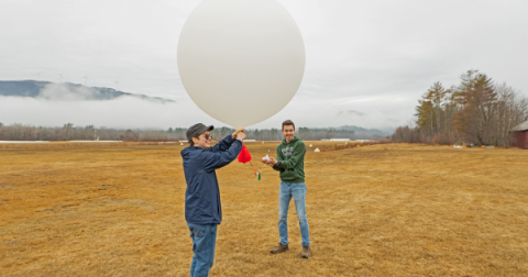
[[[72,82],[55,84],[51,81],[35,80],[0,80],[0,96],[44,98],[52,100],[63,98],[75,100],[112,100],[118,97],[130,96],[144,100],[175,102],[174,100],[157,97],[147,97],[144,95],[134,95],[114,90],[112,88],[85,87],[82,85]]]

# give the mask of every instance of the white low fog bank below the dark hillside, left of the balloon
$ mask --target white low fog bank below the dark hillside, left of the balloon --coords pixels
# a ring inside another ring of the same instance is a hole
[[[193,113],[198,115],[189,117],[189,110],[194,110]],[[107,101],[0,97],[0,122],[6,125],[21,123],[62,126],[74,123],[75,126],[165,130],[169,126],[187,126],[200,120],[211,121],[197,108],[186,107],[184,111],[182,106],[175,102],[145,101],[129,96]]]

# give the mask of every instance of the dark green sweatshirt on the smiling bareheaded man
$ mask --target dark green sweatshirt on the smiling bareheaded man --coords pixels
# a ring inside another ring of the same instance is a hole
[[[305,143],[294,137],[287,143],[283,140],[277,146],[277,164],[273,169],[280,171],[280,180],[285,182],[305,182]]]

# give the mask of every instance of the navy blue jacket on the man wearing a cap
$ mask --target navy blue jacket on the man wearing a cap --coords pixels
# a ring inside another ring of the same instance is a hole
[[[239,156],[242,142],[226,136],[213,147],[202,149],[198,146],[185,147],[185,220],[195,224],[220,224],[222,206],[220,189],[215,169],[227,166]]]

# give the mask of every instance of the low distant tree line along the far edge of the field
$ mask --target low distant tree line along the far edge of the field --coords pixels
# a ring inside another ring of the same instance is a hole
[[[0,123],[0,141],[187,141],[186,128],[169,128],[168,130],[120,130],[98,128],[94,125],[74,126],[66,123],[63,126],[34,126],[24,124],[4,125]],[[231,128],[217,128],[211,134],[213,140],[221,140],[234,132]],[[283,134],[279,129],[248,129],[249,140],[280,141]],[[333,128],[299,128],[296,136],[305,141],[319,141],[321,138],[378,138],[381,135],[355,133],[351,130]]]

